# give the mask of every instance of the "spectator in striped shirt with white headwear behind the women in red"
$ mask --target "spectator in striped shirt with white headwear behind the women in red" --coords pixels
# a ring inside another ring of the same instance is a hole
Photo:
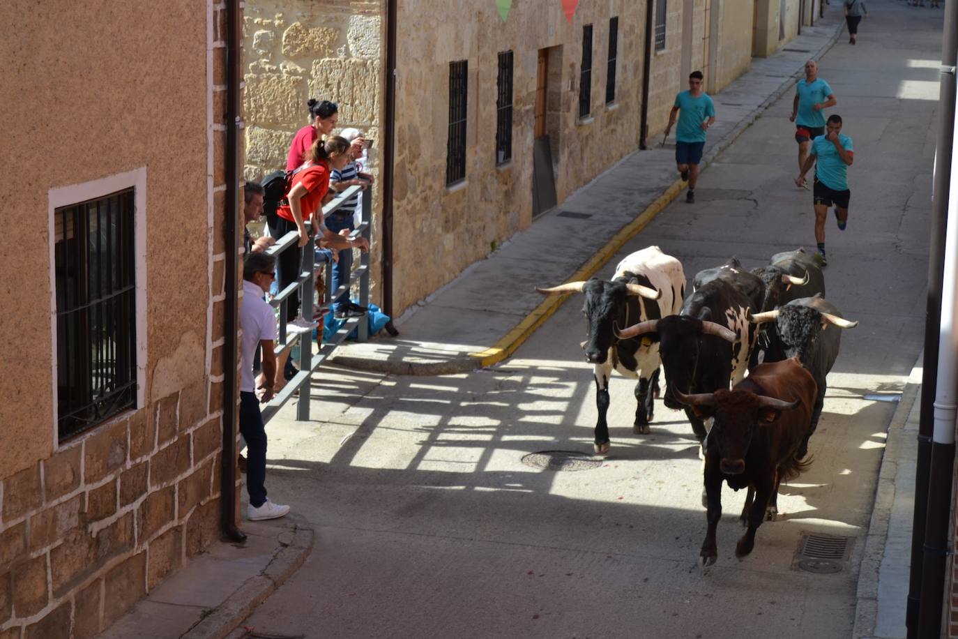
[[[363,190],[373,181],[373,176],[369,173],[360,173],[356,167],[356,159],[362,155],[363,148],[366,146],[366,140],[362,134],[355,128],[347,128],[340,132],[340,137],[350,143],[348,151],[349,161],[342,169],[333,169],[330,173],[330,188],[337,192],[343,192],[353,186],[362,187]],[[354,213],[359,204],[359,194],[353,194],[343,204],[326,217],[326,226],[334,233],[342,233],[344,230],[349,233],[354,230]],[[346,285],[346,290],[336,298],[332,303],[333,314],[336,319],[346,319],[349,317],[358,317],[366,312],[367,308],[355,304],[350,299],[350,273],[353,268],[352,249],[339,251],[338,260],[332,266],[332,290],[337,290],[340,285]]]

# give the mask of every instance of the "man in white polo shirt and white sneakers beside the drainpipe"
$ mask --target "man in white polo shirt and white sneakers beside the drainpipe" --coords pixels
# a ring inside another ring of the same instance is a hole
[[[275,519],[289,512],[288,506],[274,504],[266,498],[266,429],[262,422],[260,402],[273,399],[276,378],[277,338],[276,314],[262,296],[269,290],[276,273],[276,258],[265,253],[250,253],[242,266],[242,303],[239,306],[239,327],[242,329],[242,350],[239,373],[239,433],[246,440],[246,491],[249,493],[247,517],[252,521]],[[253,382],[253,358],[262,347],[264,385],[257,389]]]

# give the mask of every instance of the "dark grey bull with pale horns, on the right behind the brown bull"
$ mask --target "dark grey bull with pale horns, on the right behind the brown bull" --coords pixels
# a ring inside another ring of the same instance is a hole
[[[785,306],[753,315],[751,321],[756,325],[770,323],[764,331],[768,341],[764,361],[797,357],[818,385],[811,429],[799,448],[799,458],[805,457],[809,452],[809,438],[818,426],[825,405],[826,378],[838,358],[841,331],[837,329],[854,329],[858,323],[842,317],[838,308],[818,296],[792,300]]]

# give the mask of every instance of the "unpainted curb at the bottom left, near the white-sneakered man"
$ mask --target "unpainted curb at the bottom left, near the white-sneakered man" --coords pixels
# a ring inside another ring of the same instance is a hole
[[[223,639],[230,634],[303,565],[312,551],[312,537],[311,529],[298,526],[281,534],[280,542],[284,547],[273,556],[262,573],[243,582],[225,602],[180,639]]]

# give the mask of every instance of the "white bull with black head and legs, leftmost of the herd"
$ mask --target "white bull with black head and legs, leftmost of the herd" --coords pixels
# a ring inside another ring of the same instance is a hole
[[[638,378],[635,385],[635,433],[649,432],[654,397],[658,386],[658,344],[651,340],[618,339],[615,330],[636,322],[658,319],[678,312],[685,295],[682,264],[658,246],[628,255],[616,266],[611,281],[592,278],[536,290],[545,295],[582,292],[582,313],[588,322],[588,338],[582,342],[585,359],[595,366],[596,407],[595,452],[609,450],[608,380],[615,369],[625,377]]]

